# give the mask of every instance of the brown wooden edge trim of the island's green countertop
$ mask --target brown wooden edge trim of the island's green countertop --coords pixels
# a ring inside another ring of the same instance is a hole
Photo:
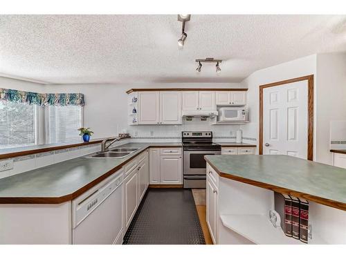
[[[304,199],[309,200],[311,202],[316,202],[316,203],[326,205],[326,206],[329,206],[329,207],[332,207],[335,209],[340,209],[340,210],[346,211],[346,203],[336,202],[335,200],[329,200],[329,199],[318,197],[315,195],[310,195],[307,193],[301,193],[300,191],[294,191],[291,189],[286,189],[286,188],[283,188],[280,186],[275,186],[273,184],[266,184],[264,182],[258,182],[255,180],[250,180],[248,178],[242,178],[240,176],[230,175],[228,173],[223,173],[223,172],[220,172],[206,157],[204,159],[208,162],[208,164],[210,166],[212,166],[212,169],[214,169],[217,172],[217,174],[220,175],[222,178],[235,180],[237,182],[243,182],[244,184],[250,184],[250,185],[257,186],[257,187],[260,187],[263,189],[276,191],[277,193],[284,193],[284,194],[293,195],[293,196],[298,197],[298,198],[304,198]]]

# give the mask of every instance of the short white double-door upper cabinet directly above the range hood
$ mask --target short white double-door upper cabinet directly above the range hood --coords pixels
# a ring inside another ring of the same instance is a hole
[[[216,110],[214,91],[183,91],[183,111]]]

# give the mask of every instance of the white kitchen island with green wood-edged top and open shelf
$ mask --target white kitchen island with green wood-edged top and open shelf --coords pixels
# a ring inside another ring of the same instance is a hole
[[[346,244],[346,170],[286,155],[206,155],[217,244],[303,244],[273,227],[274,191],[309,200],[309,244]]]

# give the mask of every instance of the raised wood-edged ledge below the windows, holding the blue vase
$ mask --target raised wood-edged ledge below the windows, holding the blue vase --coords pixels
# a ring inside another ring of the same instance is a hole
[[[111,137],[110,140],[114,140],[116,137]],[[125,139],[128,137],[120,137],[121,139]],[[102,139],[91,140],[90,142],[72,142],[72,143],[56,143],[56,144],[42,144],[35,146],[21,146],[18,148],[3,148],[0,149],[0,160],[12,158],[12,157],[20,157],[23,155],[32,155],[37,153],[44,153],[49,151],[55,151],[59,149],[65,148],[74,148],[76,146],[87,146],[92,144],[101,143]]]

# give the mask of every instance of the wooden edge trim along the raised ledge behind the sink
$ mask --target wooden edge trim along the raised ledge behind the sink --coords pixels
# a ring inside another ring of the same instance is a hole
[[[115,140],[115,138],[116,137],[109,137],[109,140]],[[121,139],[127,139],[127,138],[129,138],[129,137],[121,137]],[[24,155],[33,155],[33,154],[37,154],[37,153],[56,151],[56,150],[65,149],[65,148],[74,148],[77,146],[89,146],[89,145],[98,144],[101,142],[102,142],[102,140],[92,140],[90,142],[80,142],[80,143],[75,143],[75,144],[62,144],[61,146],[51,146],[51,147],[46,147],[46,148],[29,149],[26,151],[17,151],[17,152],[12,152],[12,153],[0,154],[0,160],[12,158],[12,157],[21,157]]]

